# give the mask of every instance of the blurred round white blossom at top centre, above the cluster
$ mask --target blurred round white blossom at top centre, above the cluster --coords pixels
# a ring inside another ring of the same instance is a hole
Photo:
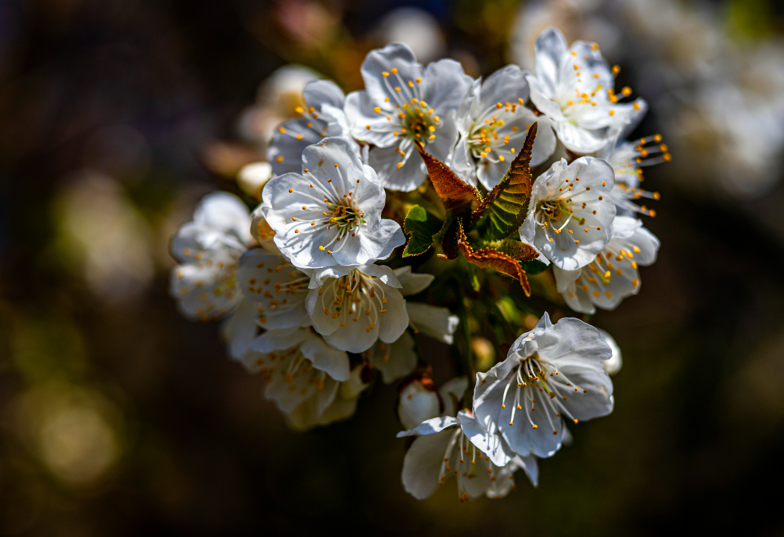
[[[405,43],[419,61],[437,60],[446,52],[446,40],[438,21],[424,9],[402,7],[387,13],[379,23],[376,37],[387,43]]]

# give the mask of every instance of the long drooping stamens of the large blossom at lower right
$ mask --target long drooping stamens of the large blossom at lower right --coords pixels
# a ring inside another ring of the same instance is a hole
[[[517,387],[514,390],[514,404],[512,406],[512,416],[509,420],[509,425],[514,425],[514,414],[517,410],[522,411],[524,404],[525,417],[528,419],[528,423],[531,424],[532,429],[539,429],[539,425],[534,423],[534,420],[532,419],[532,412],[535,412],[536,410],[536,394],[546,394],[548,397],[541,397],[539,403],[542,405],[544,415],[550,423],[553,434],[558,434],[557,426],[550,416],[550,412],[555,412],[557,418],[560,418],[561,413],[563,412],[569,419],[572,419],[574,423],[577,423],[577,419],[569,413],[561,402],[561,400],[566,401],[567,397],[559,391],[558,383],[554,380],[547,380],[547,376],[552,377],[554,375],[559,375],[560,378],[564,380],[565,386],[569,386],[570,389],[574,387],[575,392],[581,393],[580,388],[579,386],[573,385],[572,382],[561,372],[557,371],[553,365],[548,364],[546,361],[540,361],[538,358],[537,354],[533,354],[520,361],[520,365],[517,366],[516,374],[510,377],[509,383],[506,384],[506,388],[503,390],[501,408],[506,408],[506,394],[509,392],[512,383],[517,382]],[[561,388],[564,388],[564,386],[561,386]],[[585,394],[587,391],[588,390],[583,389],[582,393]],[[530,412],[528,409],[529,403],[531,405]]]

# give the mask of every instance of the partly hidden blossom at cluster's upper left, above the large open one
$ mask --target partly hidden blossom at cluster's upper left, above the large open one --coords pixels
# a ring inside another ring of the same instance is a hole
[[[305,106],[296,107],[301,117],[280,125],[267,148],[267,161],[276,176],[299,172],[305,147],[328,136],[345,138],[352,150],[359,153],[343,112],[343,90],[331,80],[314,80],[305,86],[303,97]]]

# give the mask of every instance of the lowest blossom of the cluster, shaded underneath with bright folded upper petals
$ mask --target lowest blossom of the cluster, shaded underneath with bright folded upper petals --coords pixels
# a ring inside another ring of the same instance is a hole
[[[523,469],[536,486],[539,468],[532,455],[516,455],[503,437],[490,433],[467,410],[457,417],[428,419],[398,437],[419,435],[403,459],[406,492],[426,499],[453,475],[461,502],[487,495],[503,498],[514,490],[514,473]]]

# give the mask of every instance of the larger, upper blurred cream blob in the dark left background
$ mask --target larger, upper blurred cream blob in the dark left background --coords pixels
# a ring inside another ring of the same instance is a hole
[[[153,277],[150,230],[114,180],[85,172],[56,201],[59,246],[108,303],[143,292]]]

